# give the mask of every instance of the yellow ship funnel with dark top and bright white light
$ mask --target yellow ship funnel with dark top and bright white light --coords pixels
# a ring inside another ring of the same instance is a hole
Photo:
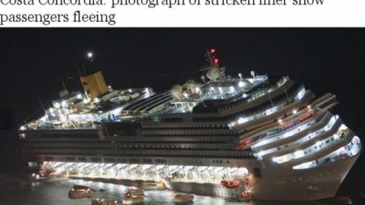
[[[77,70],[82,87],[89,99],[93,100],[108,92],[103,73],[91,52],[88,53],[86,61],[81,63]]]

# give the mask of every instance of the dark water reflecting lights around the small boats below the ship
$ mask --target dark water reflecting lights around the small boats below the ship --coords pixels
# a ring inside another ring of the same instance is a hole
[[[73,185],[86,185],[95,190],[105,189],[105,192],[96,192],[95,198],[105,200],[120,200],[126,193],[127,186],[115,185],[112,183],[83,181],[78,179],[45,179],[32,182],[24,190],[1,194],[1,205],[90,205],[91,198],[69,199],[68,191]],[[173,197],[176,193],[170,190],[145,191],[144,204],[167,205],[174,204]],[[325,205],[319,202],[273,202],[273,201],[250,201],[237,202],[235,199],[224,199],[220,197],[195,195],[194,205]]]

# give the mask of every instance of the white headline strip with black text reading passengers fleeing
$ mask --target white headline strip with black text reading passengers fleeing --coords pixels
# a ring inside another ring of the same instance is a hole
[[[364,0],[0,0],[1,27],[363,27]]]

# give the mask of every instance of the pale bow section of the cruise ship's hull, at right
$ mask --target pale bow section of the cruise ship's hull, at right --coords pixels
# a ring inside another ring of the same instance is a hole
[[[254,186],[253,197],[262,200],[319,200],[335,197],[359,154],[303,170],[266,170]],[[280,173],[281,172],[281,173]]]

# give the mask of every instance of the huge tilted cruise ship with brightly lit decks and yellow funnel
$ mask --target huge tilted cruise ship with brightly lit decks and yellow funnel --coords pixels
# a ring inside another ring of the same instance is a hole
[[[210,196],[334,197],[362,149],[331,112],[335,94],[316,97],[288,76],[227,75],[215,54],[207,50],[199,81],[155,92],[108,86],[88,53],[77,68],[83,90],[62,89],[19,128],[27,166]]]

